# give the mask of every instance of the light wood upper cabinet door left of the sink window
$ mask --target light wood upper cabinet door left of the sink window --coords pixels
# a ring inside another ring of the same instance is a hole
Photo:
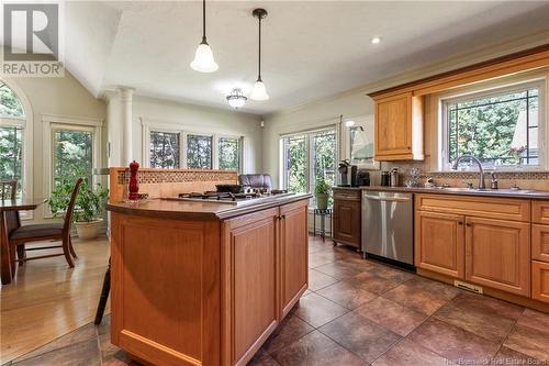
[[[376,155],[412,154],[412,93],[376,101]]]

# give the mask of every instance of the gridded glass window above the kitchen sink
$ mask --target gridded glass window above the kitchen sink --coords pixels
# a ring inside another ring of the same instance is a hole
[[[445,164],[477,156],[486,167],[540,166],[544,82],[444,101]]]

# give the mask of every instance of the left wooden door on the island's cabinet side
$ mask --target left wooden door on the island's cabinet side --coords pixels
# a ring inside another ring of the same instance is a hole
[[[278,324],[278,209],[234,221],[232,364],[245,365],[257,351],[256,341],[265,341]]]

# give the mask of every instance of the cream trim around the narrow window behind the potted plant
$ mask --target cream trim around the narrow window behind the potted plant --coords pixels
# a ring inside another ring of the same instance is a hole
[[[42,131],[44,137],[44,146],[43,146],[43,185],[44,185],[44,193],[45,197],[52,196],[53,188],[53,164],[54,151],[52,148],[53,142],[53,132],[57,129],[63,130],[87,130],[93,132],[93,154],[92,154],[92,169],[99,169],[101,167],[101,137],[102,137],[102,129],[103,129],[103,120],[102,119],[91,119],[91,118],[78,118],[78,117],[66,117],[66,115],[56,115],[56,114],[42,114]],[[94,186],[99,182],[99,177],[92,175],[92,185]],[[44,204],[43,208],[44,218],[51,219],[53,218],[53,213]]]

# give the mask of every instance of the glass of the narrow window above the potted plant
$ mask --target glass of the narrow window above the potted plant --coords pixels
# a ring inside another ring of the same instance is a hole
[[[53,187],[63,180],[76,181],[85,177],[91,185],[93,181],[93,132],[86,127],[54,126],[52,129]]]

